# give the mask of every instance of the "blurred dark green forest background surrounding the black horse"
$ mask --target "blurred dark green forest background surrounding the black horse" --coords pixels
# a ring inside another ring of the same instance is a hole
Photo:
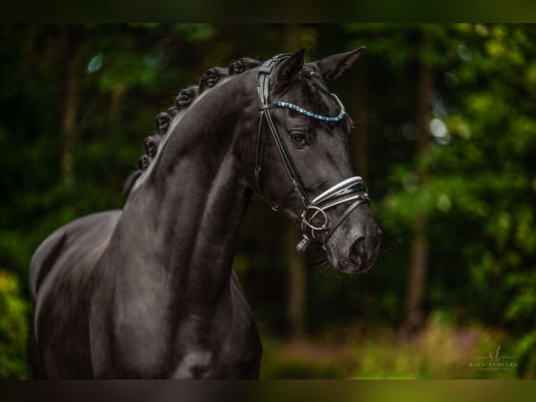
[[[234,269],[261,377],[536,377],[536,25],[513,24],[0,25],[0,377],[30,375],[34,250],[122,207],[180,90],[241,57],[361,45],[330,88],[355,122],[381,256],[336,275],[253,197]]]

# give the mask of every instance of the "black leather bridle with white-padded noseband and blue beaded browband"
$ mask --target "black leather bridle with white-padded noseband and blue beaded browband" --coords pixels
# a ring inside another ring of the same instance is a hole
[[[285,151],[285,147],[283,146],[281,137],[276,130],[274,120],[272,120],[269,110],[274,107],[286,107],[288,109],[295,110],[298,113],[302,113],[304,114],[304,116],[309,116],[317,120],[323,120],[328,122],[336,122],[341,120],[346,114],[346,110],[344,109],[344,106],[341,101],[339,101],[339,98],[337,98],[337,96],[334,94],[332,94],[332,96],[341,108],[339,116],[336,117],[321,116],[316,113],[306,111],[299,106],[295,104],[290,104],[288,102],[269,103],[269,85],[271,72],[274,70],[278,62],[281,62],[281,60],[284,60],[287,57],[290,57],[290,54],[276,55],[270,60],[267,60],[267,62],[262,64],[262,66],[260,66],[258,69],[257,90],[260,102],[260,123],[257,138],[257,152],[255,158],[255,181],[257,184],[258,193],[261,195],[261,197],[264,198],[269,203],[269,205],[271,205],[272,209],[274,209],[275,211],[279,211],[280,208],[277,205],[267,200],[265,195],[262,193],[262,187],[260,185],[260,170],[262,164],[261,135],[262,127],[266,120],[271,135],[272,137],[274,137],[274,141],[279,155],[281,156],[281,160],[283,161],[283,166],[285,167],[290,181],[292,182],[292,187],[294,188],[299,200],[304,206],[304,211],[302,212],[301,216],[303,239],[296,246],[296,251],[298,253],[303,253],[307,246],[309,246],[309,243],[311,241],[318,240],[318,233],[327,232],[323,239],[323,247],[325,249],[325,244],[327,244],[327,240],[331,237],[331,235],[333,235],[334,231],[339,227],[339,225],[344,221],[344,219],[346,219],[346,217],[356,207],[358,207],[358,205],[362,204],[363,202],[367,202],[367,204],[370,205],[370,200],[367,194],[367,185],[365,184],[365,181],[361,179],[360,176],[353,176],[349,179],[343,180],[340,183],[335,184],[331,188],[328,188],[322,194],[313,198],[313,200],[309,200],[304,186],[299,180],[299,176],[297,175],[294,167],[292,167],[292,163],[288,158],[288,154]],[[330,221],[327,219],[327,214],[325,213],[325,210],[350,201],[353,201],[350,207],[348,207],[346,211],[341,214],[341,216],[339,216],[339,219],[337,219],[337,221],[335,221],[334,223],[330,223]],[[321,221],[323,221],[321,224],[313,224],[313,219],[315,219],[317,216],[320,216]]]

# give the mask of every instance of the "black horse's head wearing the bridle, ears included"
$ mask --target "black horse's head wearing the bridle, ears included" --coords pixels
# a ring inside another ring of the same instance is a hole
[[[253,187],[274,209],[322,244],[336,270],[364,272],[381,244],[367,186],[353,174],[352,120],[327,88],[358,58],[348,53],[304,62],[304,52],[278,55],[258,71],[260,126]]]

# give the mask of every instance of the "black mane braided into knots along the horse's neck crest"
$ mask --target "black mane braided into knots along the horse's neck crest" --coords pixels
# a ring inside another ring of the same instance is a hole
[[[258,60],[244,57],[237,62],[232,63],[229,67],[213,67],[205,71],[205,74],[199,80],[198,85],[192,85],[178,93],[175,99],[175,106],[158,113],[155,118],[155,133],[143,141],[144,153],[138,160],[138,169],[132,172],[125,184],[123,185],[123,194],[128,197],[134,184],[150,166],[151,161],[155,158],[162,139],[169,134],[171,122],[179,115],[179,112],[188,109],[192,102],[203,92],[209,91],[221,82],[221,78],[241,74],[244,71],[260,66]]]

